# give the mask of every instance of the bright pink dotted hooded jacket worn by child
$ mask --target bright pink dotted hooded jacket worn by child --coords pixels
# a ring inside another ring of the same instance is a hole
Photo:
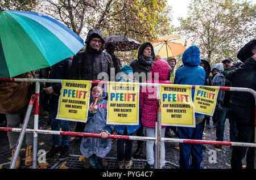
[[[171,71],[171,67],[164,60],[157,60],[152,66],[152,79],[145,83],[160,83],[171,84],[167,80]],[[159,75],[155,74],[158,73]],[[159,78],[157,79],[157,76]],[[156,100],[156,87],[141,87],[139,95],[139,108],[141,111],[142,125],[148,128],[155,128],[156,112],[157,112],[157,100]],[[162,126],[164,128],[164,126]]]

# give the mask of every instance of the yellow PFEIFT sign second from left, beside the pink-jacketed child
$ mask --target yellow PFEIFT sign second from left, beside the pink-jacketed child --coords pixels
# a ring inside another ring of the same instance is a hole
[[[139,124],[139,84],[109,82],[107,124]]]

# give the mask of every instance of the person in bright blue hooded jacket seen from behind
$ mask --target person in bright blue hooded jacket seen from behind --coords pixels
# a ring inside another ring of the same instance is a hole
[[[174,84],[204,85],[206,74],[204,68],[199,66],[200,49],[192,45],[182,55],[183,67],[176,70]],[[192,99],[195,89],[192,89]],[[195,113],[196,127],[177,127],[180,139],[203,139],[203,114]],[[181,169],[200,169],[203,160],[202,144],[180,143],[179,165]]]

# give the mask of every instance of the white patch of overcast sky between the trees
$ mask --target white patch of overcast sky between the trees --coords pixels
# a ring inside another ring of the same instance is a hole
[[[183,17],[187,15],[188,10],[188,4],[190,0],[168,0],[168,5],[171,5],[173,14],[173,20],[172,24],[175,25],[175,27],[179,26],[179,21],[177,18]],[[256,3],[256,0],[251,0],[254,4]]]

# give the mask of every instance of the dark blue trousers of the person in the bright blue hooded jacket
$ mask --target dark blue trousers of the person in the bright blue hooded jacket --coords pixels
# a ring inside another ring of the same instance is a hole
[[[203,139],[203,122],[196,127],[177,127],[180,139]],[[201,169],[203,160],[202,144],[180,143],[180,169]]]

